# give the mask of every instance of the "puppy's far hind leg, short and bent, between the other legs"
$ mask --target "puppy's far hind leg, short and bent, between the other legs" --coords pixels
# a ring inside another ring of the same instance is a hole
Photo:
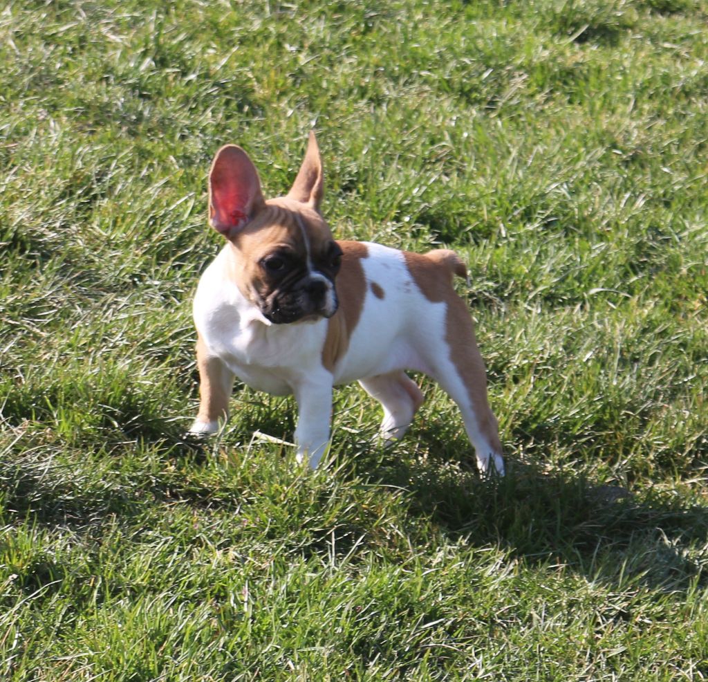
[[[413,415],[423,403],[423,394],[416,382],[405,372],[396,371],[367,377],[359,384],[384,409],[380,431],[382,441],[391,443],[403,438]]]

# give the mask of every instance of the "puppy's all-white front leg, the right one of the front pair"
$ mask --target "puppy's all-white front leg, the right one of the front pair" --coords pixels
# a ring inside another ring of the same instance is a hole
[[[314,469],[329,445],[332,377],[329,373],[307,377],[298,382],[294,389],[297,400],[297,461],[304,462],[307,458]]]

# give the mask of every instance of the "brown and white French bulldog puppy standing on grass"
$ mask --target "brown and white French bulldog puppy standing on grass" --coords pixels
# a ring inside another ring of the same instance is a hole
[[[332,390],[358,380],[383,408],[380,437],[397,441],[423,402],[406,370],[433,377],[457,403],[482,472],[503,474],[474,322],[452,287],[467,276],[447,249],[428,254],[336,241],[320,213],[314,132],[295,183],[265,200],[244,149],[219,149],[209,219],[227,240],[194,298],[200,408],[190,433],[227,419],[234,377],[295,394],[297,460],[314,469],[330,440]]]

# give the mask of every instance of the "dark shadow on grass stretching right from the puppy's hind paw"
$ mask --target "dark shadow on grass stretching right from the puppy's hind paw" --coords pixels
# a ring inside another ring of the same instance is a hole
[[[520,462],[508,469],[485,480],[472,466],[436,459],[384,464],[373,476],[409,490],[413,513],[474,545],[498,545],[524,561],[564,565],[609,584],[636,580],[668,591],[708,584],[691,556],[691,547],[708,543],[708,508],[652,492],[634,496],[570,471]]]

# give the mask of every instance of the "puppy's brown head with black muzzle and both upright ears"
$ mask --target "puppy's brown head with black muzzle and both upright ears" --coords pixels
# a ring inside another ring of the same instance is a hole
[[[331,317],[342,250],[320,215],[322,162],[314,132],[290,192],[265,200],[256,166],[241,147],[217,152],[209,175],[212,227],[234,246],[232,277],[273,324]]]

